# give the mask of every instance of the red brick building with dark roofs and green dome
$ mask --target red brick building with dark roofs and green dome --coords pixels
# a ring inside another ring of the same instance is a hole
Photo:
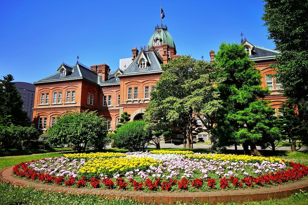
[[[267,98],[277,109],[284,98],[279,93],[280,84],[268,76],[275,70],[267,67],[275,62],[273,57],[279,52],[254,46],[248,41],[242,45],[264,76],[262,86],[271,86],[273,91]],[[213,55],[214,51],[211,51],[212,60]],[[57,115],[69,110],[87,109],[98,111],[99,115],[108,119],[110,131],[115,129],[123,112],[131,114],[132,120],[141,119],[150,100],[152,86],[162,73],[160,65],[177,56],[167,26],[156,26],[147,47],[140,48],[140,51],[132,49],[132,58],[123,59],[126,64],[120,65],[113,74],[110,74],[110,68],[105,63],[90,68],[79,62],[74,66],[63,63],[56,74],[34,82],[33,122],[39,130],[45,131],[53,126]],[[198,123],[201,124],[201,121]],[[209,140],[206,131],[199,135]]]

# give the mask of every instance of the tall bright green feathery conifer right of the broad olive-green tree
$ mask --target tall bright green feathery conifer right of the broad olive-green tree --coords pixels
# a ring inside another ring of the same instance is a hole
[[[266,105],[269,102],[261,100],[270,92],[261,88],[261,73],[243,46],[223,42],[215,57],[224,68],[217,77],[226,80],[217,84],[221,109],[212,142],[218,147],[242,144],[245,152],[260,155],[256,144],[265,139],[262,137],[279,137],[277,127],[272,126],[274,111]]]

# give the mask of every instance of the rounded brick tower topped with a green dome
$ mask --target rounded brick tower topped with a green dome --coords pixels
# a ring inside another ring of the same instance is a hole
[[[148,50],[155,51],[162,58],[164,64],[168,63],[172,56],[176,55],[176,47],[168,32],[167,25],[155,26],[155,32],[148,42]]]

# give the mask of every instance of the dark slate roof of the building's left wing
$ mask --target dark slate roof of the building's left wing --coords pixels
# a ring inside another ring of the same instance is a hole
[[[67,65],[62,64],[64,67]],[[97,83],[98,78],[97,74],[91,71],[89,68],[86,68],[80,63],[77,63],[74,66],[69,67],[71,72],[67,72],[66,76],[61,76],[60,73],[53,74],[47,78],[39,80],[38,82],[34,82],[33,84],[43,83],[43,82],[55,82],[55,81],[64,81],[64,80],[75,80],[75,79],[86,79],[90,82]]]

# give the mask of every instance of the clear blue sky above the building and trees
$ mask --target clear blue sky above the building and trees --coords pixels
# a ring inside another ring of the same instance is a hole
[[[106,63],[115,71],[120,58],[147,45],[160,4],[177,54],[210,60],[221,42],[239,43],[241,30],[253,45],[275,48],[262,26],[261,0],[1,1],[0,79],[36,82],[62,62],[75,65],[77,55],[88,67]]]

